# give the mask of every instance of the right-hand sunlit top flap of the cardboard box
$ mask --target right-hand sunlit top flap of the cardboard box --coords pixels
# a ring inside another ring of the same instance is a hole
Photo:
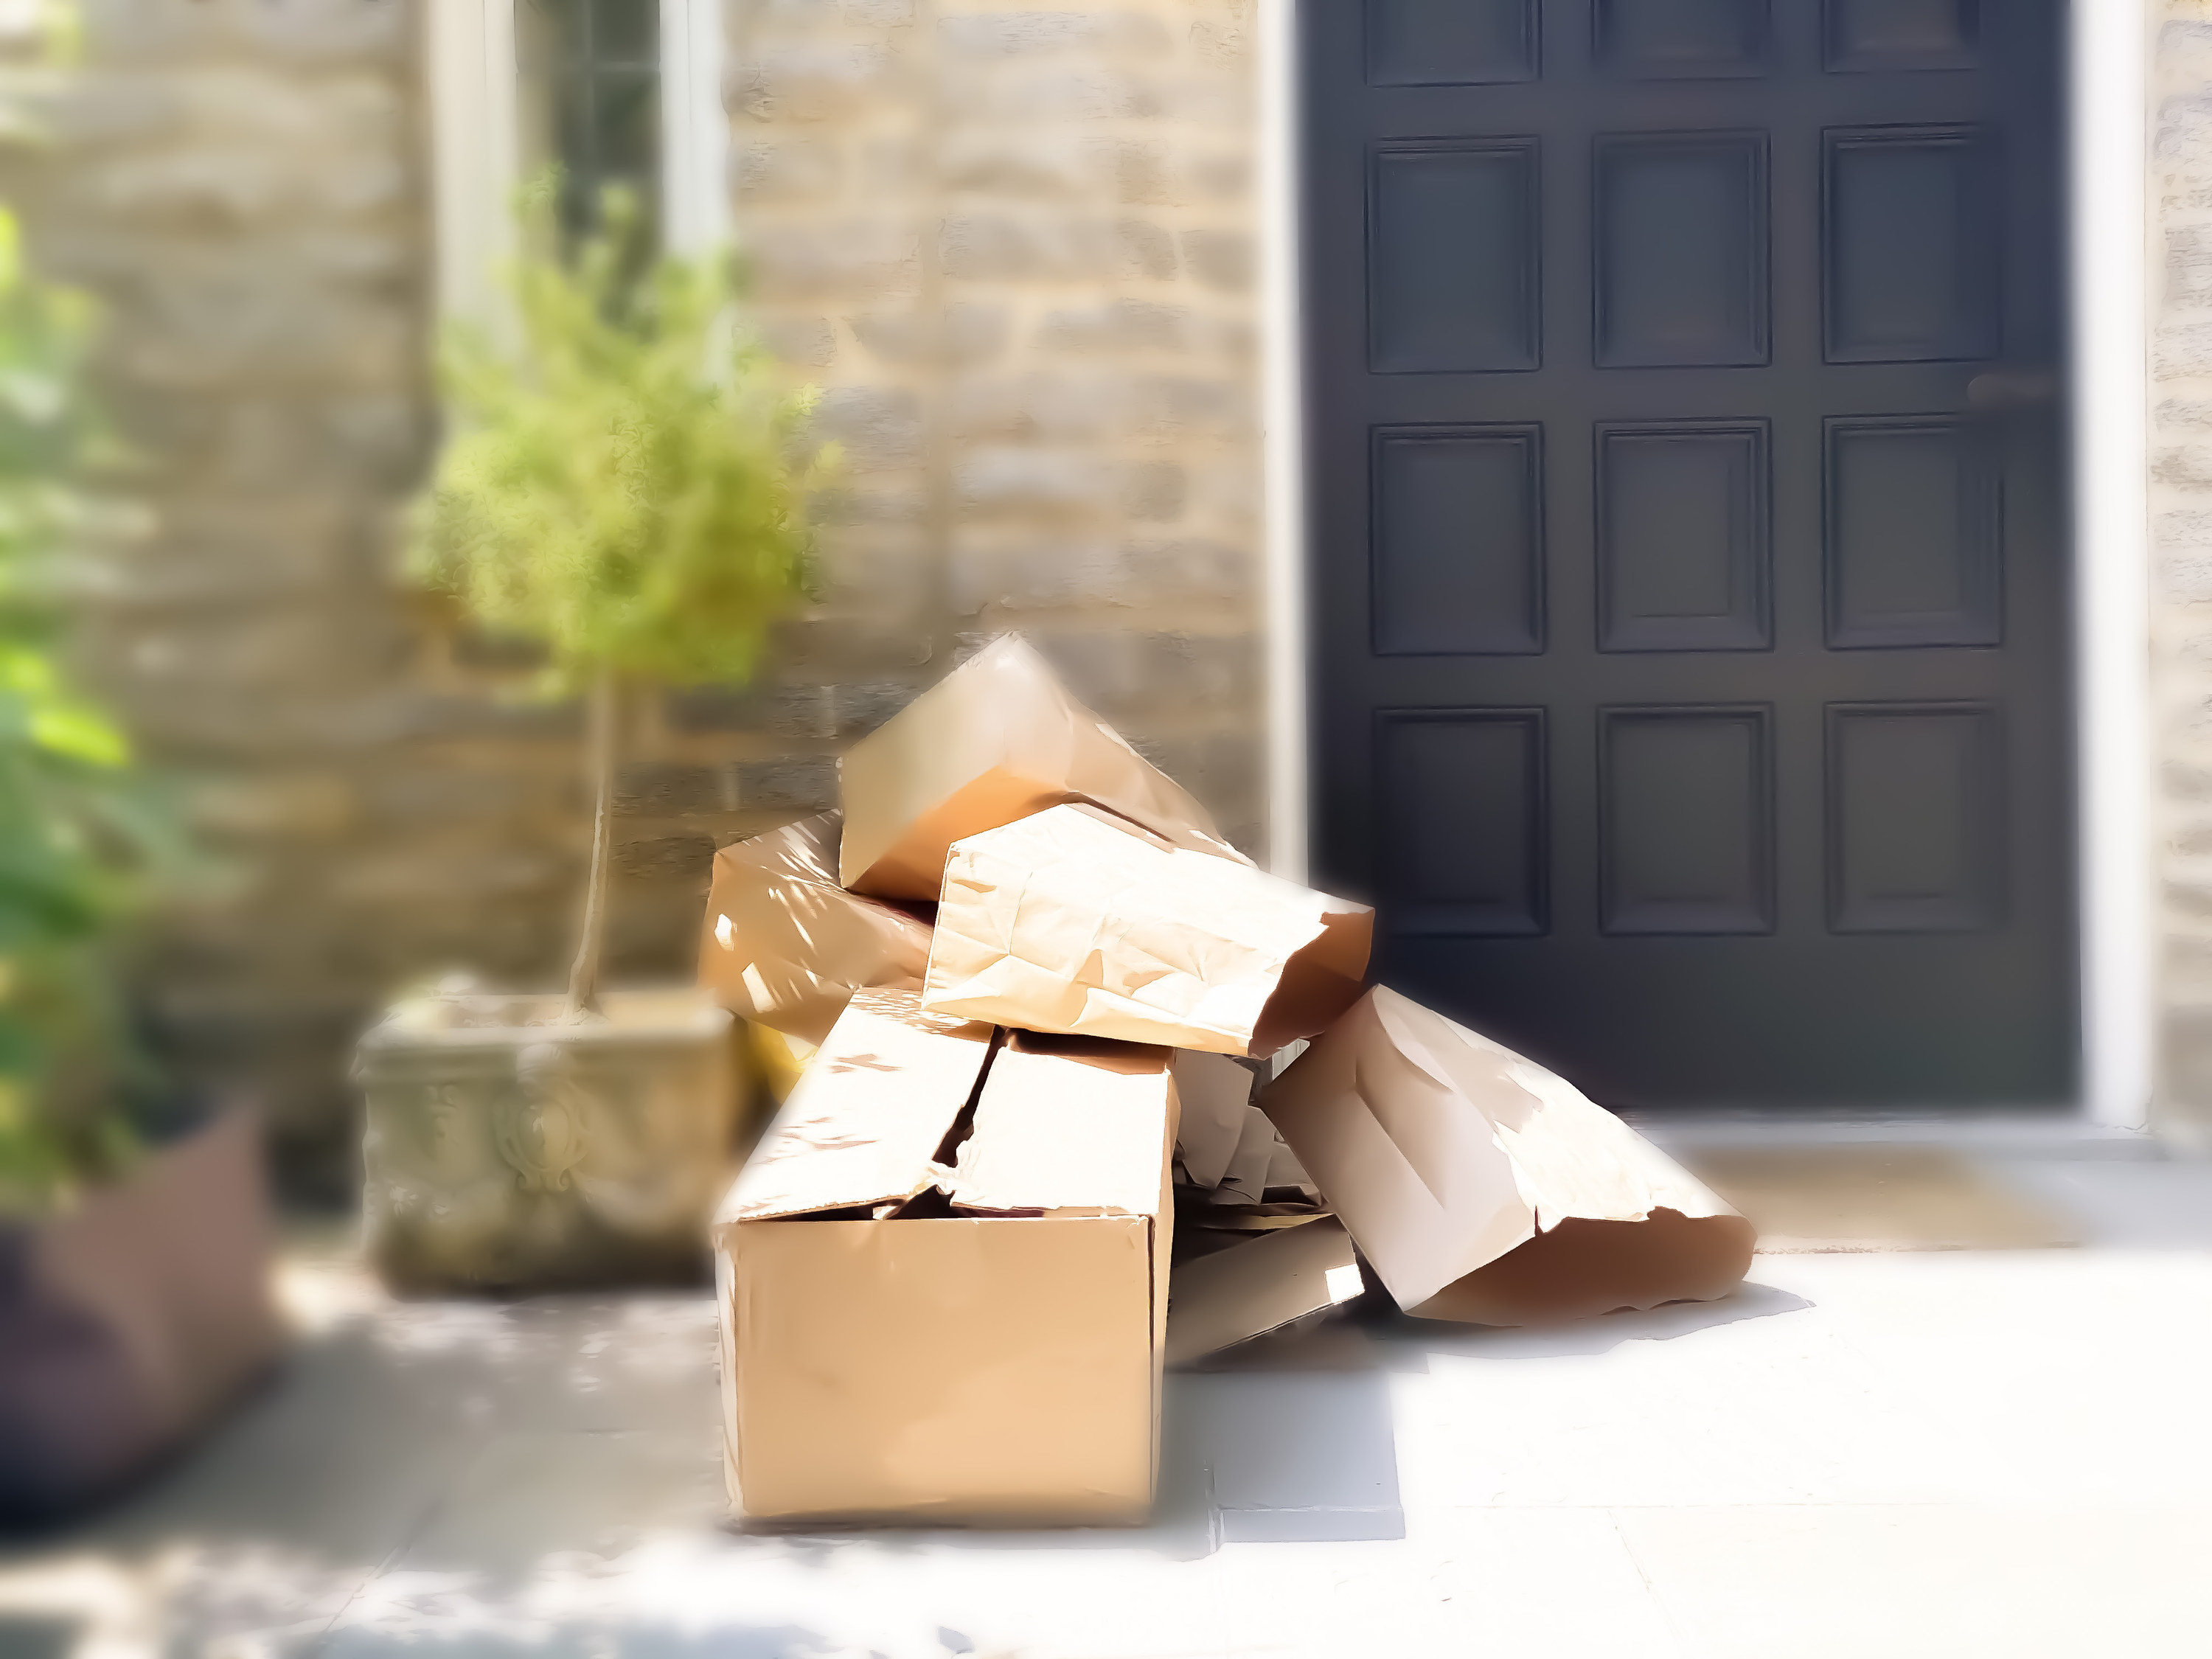
[[[1150,1217],[1172,1141],[1168,1051],[1004,1046],[945,1190],[964,1210]]]

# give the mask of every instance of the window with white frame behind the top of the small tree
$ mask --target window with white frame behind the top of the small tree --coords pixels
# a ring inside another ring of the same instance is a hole
[[[438,310],[498,321],[515,188],[557,161],[562,226],[637,190],[661,243],[728,237],[721,0],[429,0]]]

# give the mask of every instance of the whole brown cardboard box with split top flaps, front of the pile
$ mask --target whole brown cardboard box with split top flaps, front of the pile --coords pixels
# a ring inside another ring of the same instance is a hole
[[[737,1511],[1144,1520],[1172,1144],[1164,1051],[854,995],[714,1221]]]

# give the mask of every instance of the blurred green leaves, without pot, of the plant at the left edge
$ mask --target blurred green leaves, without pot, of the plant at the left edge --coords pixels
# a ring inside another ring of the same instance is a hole
[[[108,1175],[135,1071],[111,945],[181,858],[164,803],[58,653],[69,580],[122,509],[84,396],[91,307],[22,268],[0,210],[0,1210]]]

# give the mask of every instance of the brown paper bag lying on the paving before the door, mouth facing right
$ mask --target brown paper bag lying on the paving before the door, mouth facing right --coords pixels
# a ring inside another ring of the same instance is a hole
[[[1376,987],[1261,1108],[1398,1305],[1533,1325],[1725,1296],[1752,1225],[1573,1084]]]

